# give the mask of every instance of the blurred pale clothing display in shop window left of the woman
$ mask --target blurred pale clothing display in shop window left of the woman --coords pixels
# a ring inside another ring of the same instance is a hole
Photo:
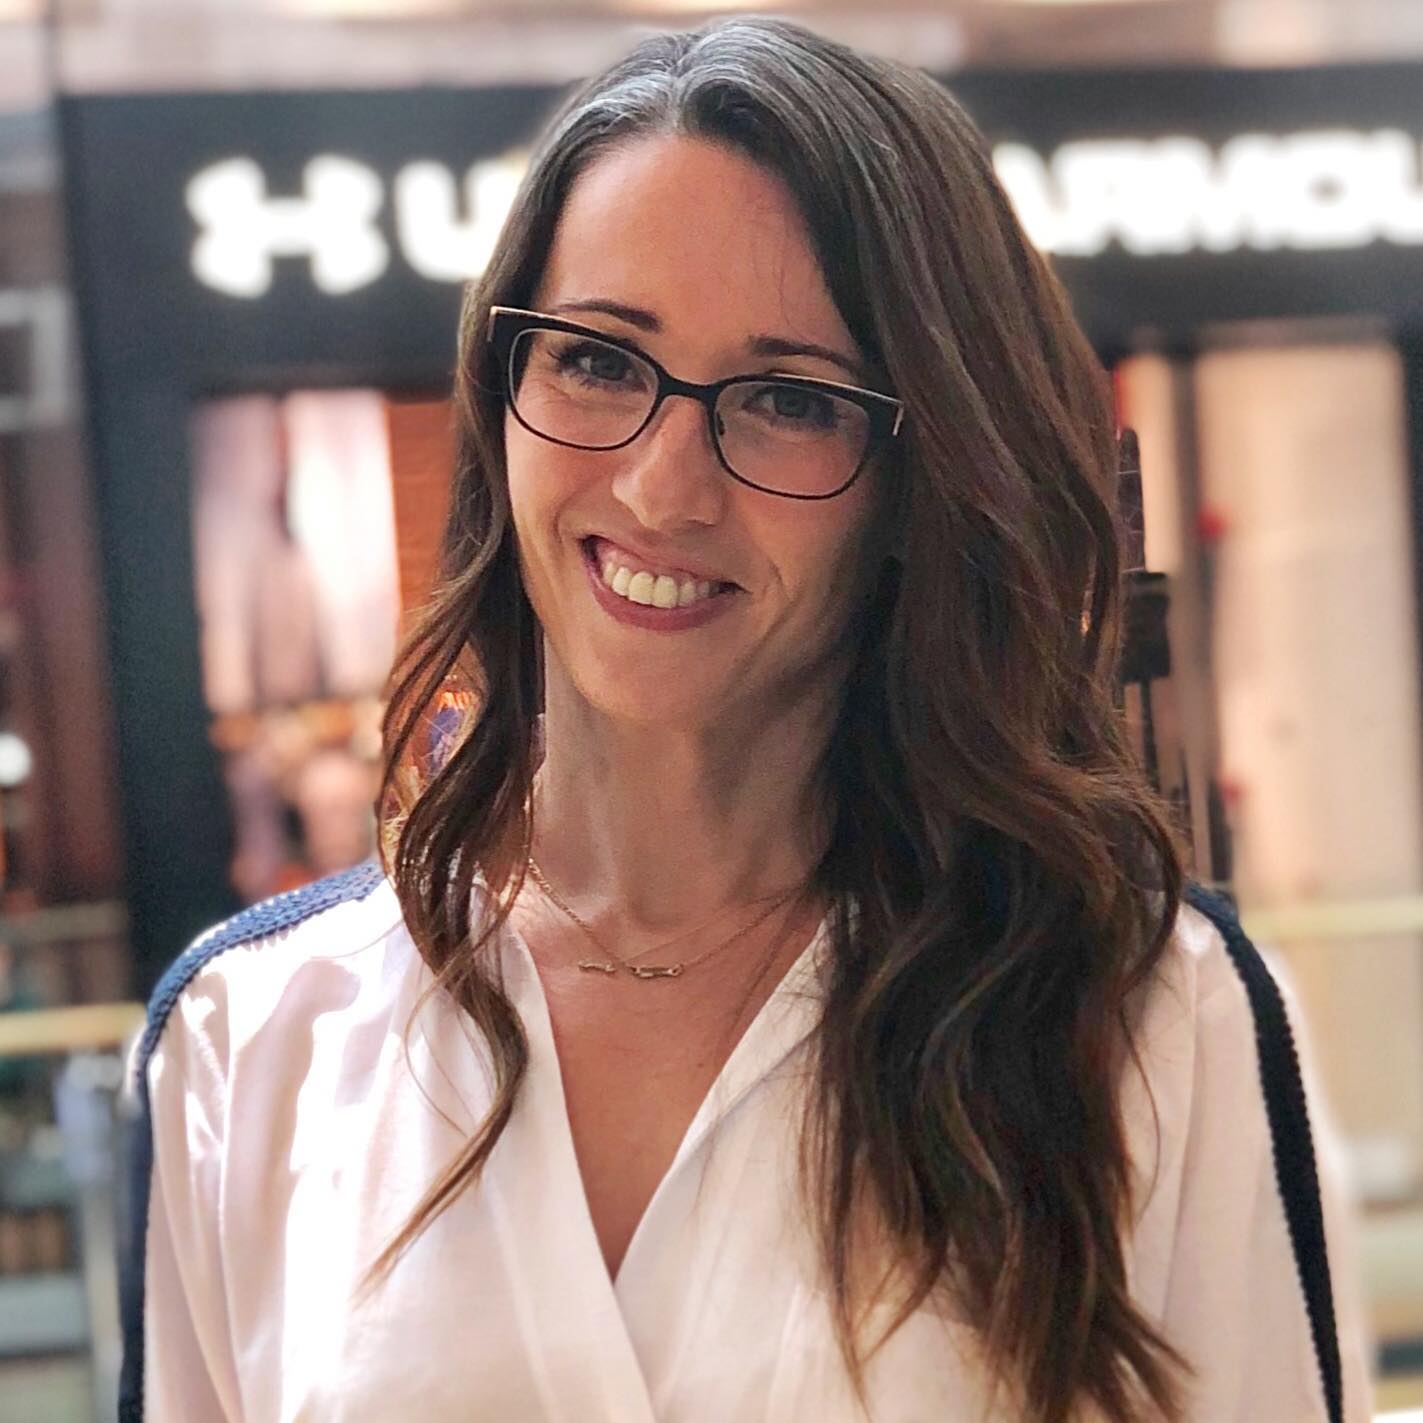
[[[246,901],[374,848],[380,693],[398,589],[386,403],[215,400],[194,417],[203,692]]]

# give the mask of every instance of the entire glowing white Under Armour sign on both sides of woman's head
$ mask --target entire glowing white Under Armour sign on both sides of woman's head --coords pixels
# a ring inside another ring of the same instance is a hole
[[[306,258],[312,280],[343,296],[380,280],[394,211],[400,252],[431,282],[465,282],[490,260],[514,201],[522,151],[471,164],[406,164],[387,184],[359,159],[313,158],[296,196],[273,196],[260,164],[228,158],[186,186],[198,225],[192,270],[228,296],[256,299],[277,258]],[[1328,252],[1373,242],[1423,245],[1423,142],[1402,129],[1110,138],[1044,157],[999,144],[993,164],[1029,236],[1054,256],[1117,243],[1138,258],[1190,252]]]

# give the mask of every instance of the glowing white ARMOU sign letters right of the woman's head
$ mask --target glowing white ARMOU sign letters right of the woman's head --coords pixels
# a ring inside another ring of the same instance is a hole
[[[1328,252],[1423,245],[1423,154],[1400,129],[1111,138],[1050,158],[999,144],[993,164],[1046,252],[1140,258],[1187,252]]]

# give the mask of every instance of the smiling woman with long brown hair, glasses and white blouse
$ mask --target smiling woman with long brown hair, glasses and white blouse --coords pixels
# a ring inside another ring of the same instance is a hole
[[[647,41],[457,408],[384,868],[155,996],[127,1416],[1343,1416],[1258,959],[1113,710],[1103,380],[955,104]]]

